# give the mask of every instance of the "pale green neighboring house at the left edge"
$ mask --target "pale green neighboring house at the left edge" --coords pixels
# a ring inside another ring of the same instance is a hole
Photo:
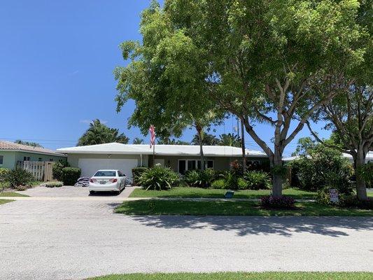
[[[40,147],[0,141],[0,167],[13,169],[17,162],[57,162],[66,159],[66,155]]]

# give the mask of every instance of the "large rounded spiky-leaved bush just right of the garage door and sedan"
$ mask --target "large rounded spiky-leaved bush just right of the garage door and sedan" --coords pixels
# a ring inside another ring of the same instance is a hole
[[[169,167],[146,169],[139,178],[140,185],[146,190],[169,190],[178,186],[180,178]]]

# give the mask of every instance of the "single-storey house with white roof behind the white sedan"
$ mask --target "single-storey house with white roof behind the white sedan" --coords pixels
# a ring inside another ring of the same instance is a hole
[[[216,170],[230,169],[230,162],[241,160],[241,148],[230,146],[204,146],[206,167]],[[153,165],[153,148],[149,145],[99,144],[59,148],[59,153],[67,155],[71,167],[82,169],[82,176],[92,176],[98,169],[119,169],[132,176],[134,167]],[[246,150],[248,162],[260,164],[268,160],[260,151]],[[184,174],[190,169],[200,169],[199,146],[155,145],[155,164],[171,167],[175,172]]]

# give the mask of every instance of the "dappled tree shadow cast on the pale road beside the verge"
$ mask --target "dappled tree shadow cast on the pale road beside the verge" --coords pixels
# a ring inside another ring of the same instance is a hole
[[[370,217],[259,217],[259,216],[133,216],[135,221],[155,228],[187,228],[232,231],[238,236],[282,235],[308,232],[330,237],[349,236],[345,230],[373,230]]]

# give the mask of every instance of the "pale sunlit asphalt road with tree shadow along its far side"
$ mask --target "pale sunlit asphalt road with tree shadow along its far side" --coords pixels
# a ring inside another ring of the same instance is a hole
[[[370,271],[373,218],[122,216],[117,202],[0,206],[0,279],[129,272]]]

